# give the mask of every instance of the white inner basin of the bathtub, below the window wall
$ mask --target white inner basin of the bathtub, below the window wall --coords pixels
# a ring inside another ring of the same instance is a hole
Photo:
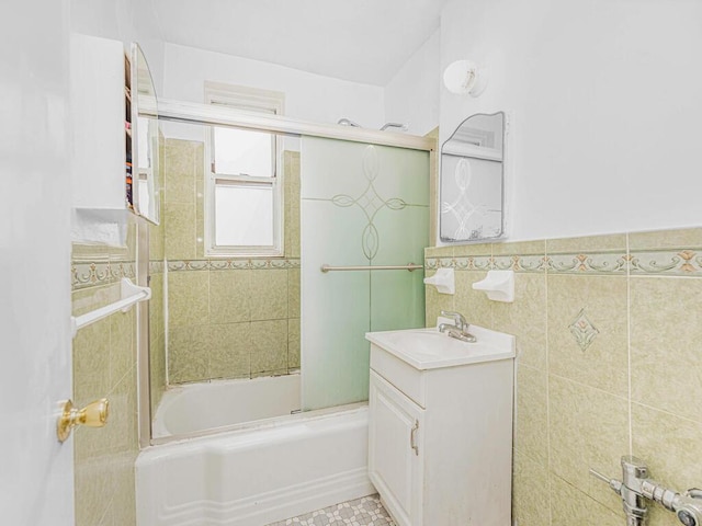
[[[163,395],[154,418],[154,437],[191,435],[298,410],[298,374],[184,385]]]

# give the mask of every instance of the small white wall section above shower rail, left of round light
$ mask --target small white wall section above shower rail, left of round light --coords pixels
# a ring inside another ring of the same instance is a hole
[[[439,126],[441,33],[411,56],[385,87],[385,122],[407,124],[408,133],[426,135]]]

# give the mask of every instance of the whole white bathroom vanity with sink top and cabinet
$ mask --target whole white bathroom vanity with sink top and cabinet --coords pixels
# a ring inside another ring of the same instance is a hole
[[[367,333],[369,476],[398,526],[511,524],[514,336]]]

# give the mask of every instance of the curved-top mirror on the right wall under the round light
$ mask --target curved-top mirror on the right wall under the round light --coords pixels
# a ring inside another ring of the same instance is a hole
[[[466,118],[441,147],[443,242],[505,236],[505,113]]]

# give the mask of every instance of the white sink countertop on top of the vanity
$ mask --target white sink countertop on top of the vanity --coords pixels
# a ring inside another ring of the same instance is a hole
[[[471,325],[477,342],[462,342],[431,329],[369,332],[365,339],[416,369],[435,369],[514,357],[514,336]]]

